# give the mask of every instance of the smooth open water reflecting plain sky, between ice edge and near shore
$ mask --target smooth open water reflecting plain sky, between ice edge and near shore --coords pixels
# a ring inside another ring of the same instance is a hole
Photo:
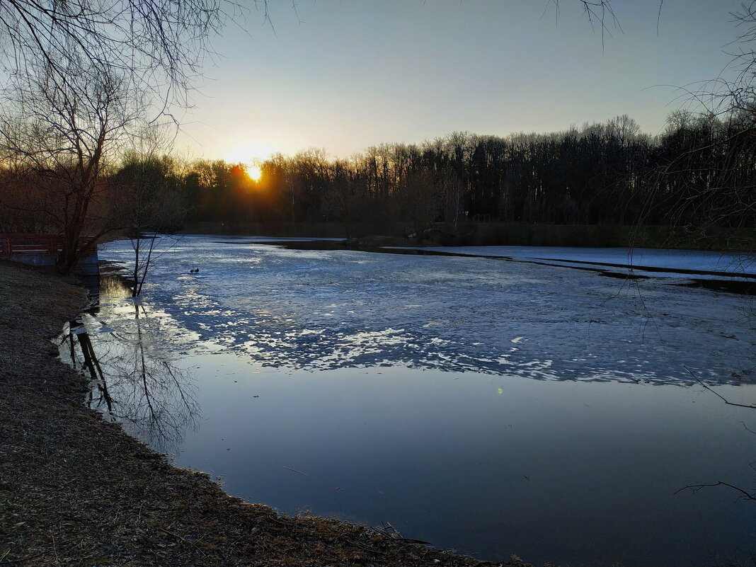
[[[700,479],[751,483],[741,421],[756,415],[700,386],[193,360],[203,424],[177,463],[283,512],[390,522],[438,547],[537,564],[710,564],[711,547],[756,545],[752,503],[674,494]],[[718,388],[753,398],[750,386]]]

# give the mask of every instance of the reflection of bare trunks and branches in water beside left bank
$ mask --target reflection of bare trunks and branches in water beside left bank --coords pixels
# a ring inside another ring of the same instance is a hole
[[[123,297],[113,280],[101,288],[104,293],[111,300]],[[125,302],[116,327],[102,324],[91,311],[70,321],[60,339],[61,357],[88,376],[89,407],[123,423],[157,451],[175,454],[200,419],[194,379],[177,364],[171,330],[144,302]]]

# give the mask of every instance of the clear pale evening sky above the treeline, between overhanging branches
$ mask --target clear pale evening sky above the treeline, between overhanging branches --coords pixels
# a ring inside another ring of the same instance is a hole
[[[347,157],[455,131],[553,132],[628,114],[660,132],[680,88],[730,61],[739,0],[612,0],[602,37],[578,0],[252,0],[213,39],[176,147],[252,162]],[[658,23],[658,33],[657,33]],[[610,35],[609,35],[610,34]]]

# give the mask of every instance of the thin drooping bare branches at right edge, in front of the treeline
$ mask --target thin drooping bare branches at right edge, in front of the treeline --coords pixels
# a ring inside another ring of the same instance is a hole
[[[641,222],[659,203],[671,225],[704,242],[756,250],[756,1],[731,14],[739,34],[727,52],[730,66],[714,80],[681,88],[682,108],[668,120],[662,141],[676,149],[654,172]],[[727,76],[731,78],[727,78]]]

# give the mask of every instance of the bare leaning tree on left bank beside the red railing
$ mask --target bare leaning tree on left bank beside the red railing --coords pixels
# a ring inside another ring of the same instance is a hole
[[[0,159],[45,193],[41,212],[64,235],[59,271],[70,271],[79,250],[112,228],[107,169],[143,109],[127,83],[70,56],[29,67],[2,93]]]

